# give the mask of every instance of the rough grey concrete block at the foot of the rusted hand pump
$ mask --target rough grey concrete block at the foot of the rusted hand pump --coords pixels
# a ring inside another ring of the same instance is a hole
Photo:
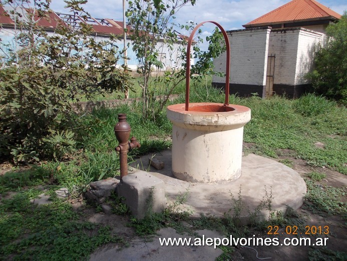
[[[147,211],[160,213],[166,205],[164,182],[145,171],[123,177],[117,185],[117,195],[125,198],[131,213],[138,219],[144,218]]]

